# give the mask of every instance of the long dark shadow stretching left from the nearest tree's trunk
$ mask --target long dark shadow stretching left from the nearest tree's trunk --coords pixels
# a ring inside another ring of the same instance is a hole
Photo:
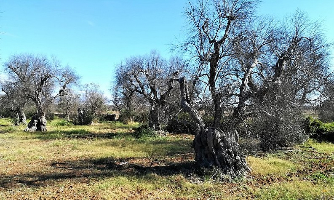
[[[125,176],[140,181],[152,181],[149,175],[172,176],[183,174],[191,176],[195,173],[194,162],[166,163],[146,159],[144,164],[135,162],[138,158],[117,160],[114,158],[82,159],[79,161],[50,162],[46,170],[29,173],[7,175],[0,174],[0,188],[11,189],[28,186],[42,187],[54,185],[64,180],[75,183],[88,183],[90,179],[104,179]],[[140,159],[139,159],[140,160]],[[51,170],[50,170],[51,168]],[[42,169],[43,170],[43,169]],[[148,179],[149,177],[149,179]],[[157,179],[159,179],[157,177]]]

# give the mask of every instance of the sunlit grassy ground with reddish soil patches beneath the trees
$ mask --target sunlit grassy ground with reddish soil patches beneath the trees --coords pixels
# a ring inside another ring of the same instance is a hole
[[[135,139],[138,124],[23,132],[0,119],[0,199],[334,199],[334,144],[248,156],[252,173],[217,181],[193,168],[192,135]]]

